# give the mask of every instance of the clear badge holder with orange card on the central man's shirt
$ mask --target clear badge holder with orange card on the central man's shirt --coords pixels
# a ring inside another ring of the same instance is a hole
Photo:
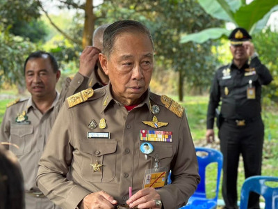
[[[142,189],[147,187],[154,187],[160,189],[163,187],[167,180],[167,167],[158,168],[158,160],[155,160],[154,169],[147,169],[145,171]]]

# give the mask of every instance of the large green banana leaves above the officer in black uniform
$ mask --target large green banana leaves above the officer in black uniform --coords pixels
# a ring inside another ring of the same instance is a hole
[[[243,27],[252,33],[253,31],[261,31],[268,22],[270,14],[278,10],[278,0],[254,0],[250,4],[246,4],[241,0],[198,0],[199,4],[204,8],[206,13],[212,17],[233,22],[236,26]],[[209,28],[207,26],[206,28]],[[229,31],[224,28],[211,28],[208,36],[204,31],[192,34],[183,34],[181,42],[206,42],[209,39],[218,39],[227,36]]]

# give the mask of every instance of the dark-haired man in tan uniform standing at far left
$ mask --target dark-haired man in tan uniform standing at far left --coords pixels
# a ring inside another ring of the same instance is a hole
[[[26,88],[31,98],[8,105],[0,130],[0,140],[10,144],[22,167],[26,209],[58,208],[35,185],[38,161],[44,150],[51,126],[51,113],[58,101],[56,83],[58,64],[47,52],[34,52],[24,64]]]

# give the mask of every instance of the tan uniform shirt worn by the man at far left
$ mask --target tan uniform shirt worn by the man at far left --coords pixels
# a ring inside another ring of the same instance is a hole
[[[38,162],[51,130],[51,112],[54,109],[58,97],[59,95],[57,93],[51,108],[45,114],[42,114],[35,107],[32,99],[29,98],[8,107],[3,117],[0,141],[10,142],[9,149],[15,153],[19,160],[24,177],[24,188],[27,191],[38,191],[38,187],[35,185]],[[17,123],[16,118],[23,111],[26,111],[28,119],[22,123]],[[28,124],[28,121],[30,124]]]

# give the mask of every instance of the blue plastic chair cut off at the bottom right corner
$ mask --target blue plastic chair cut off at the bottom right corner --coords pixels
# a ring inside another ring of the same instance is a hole
[[[278,209],[278,186],[270,187],[265,182],[278,182],[278,177],[252,176],[246,178],[240,193],[240,209],[247,209],[250,192],[256,192],[265,199],[265,209]]]

